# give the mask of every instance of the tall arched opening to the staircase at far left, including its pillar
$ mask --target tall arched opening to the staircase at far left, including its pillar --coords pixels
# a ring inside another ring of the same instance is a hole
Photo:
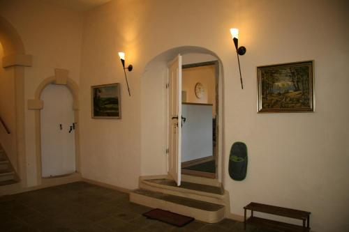
[[[24,67],[31,66],[31,56],[25,54],[22,38],[16,29],[3,17],[0,17],[1,43],[1,84],[5,84],[10,95],[0,95],[1,99],[13,102],[10,106],[1,104],[0,116],[8,124],[10,134],[1,136],[0,140],[13,168],[22,182],[27,185],[27,164],[25,155],[24,133]],[[6,93],[1,91],[2,93]]]

